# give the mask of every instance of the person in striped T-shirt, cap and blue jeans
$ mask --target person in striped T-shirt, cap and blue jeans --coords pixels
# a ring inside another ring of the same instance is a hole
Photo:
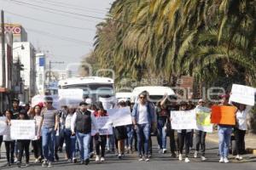
[[[58,111],[52,106],[52,97],[44,98],[44,109],[41,112],[41,122],[38,127],[38,139],[42,134],[44,161],[42,167],[52,167],[55,153],[55,134],[59,126]]]

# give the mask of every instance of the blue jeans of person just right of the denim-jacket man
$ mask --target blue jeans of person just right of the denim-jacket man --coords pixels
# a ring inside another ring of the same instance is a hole
[[[157,122],[157,137],[158,137],[158,143],[160,145],[160,149],[166,149],[166,129],[165,129],[165,123],[161,120],[158,120]]]

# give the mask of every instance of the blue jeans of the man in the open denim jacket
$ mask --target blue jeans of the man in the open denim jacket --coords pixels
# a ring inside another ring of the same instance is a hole
[[[136,133],[138,155],[148,156],[148,140],[150,137],[150,125],[148,123],[137,125]]]

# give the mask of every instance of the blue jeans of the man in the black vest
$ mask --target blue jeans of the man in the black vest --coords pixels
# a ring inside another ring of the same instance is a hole
[[[80,161],[89,159],[90,133],[76,133],[79,141]]]

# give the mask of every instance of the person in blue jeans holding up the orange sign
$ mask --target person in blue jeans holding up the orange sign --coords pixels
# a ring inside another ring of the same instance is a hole
[[[229,106],[230,95],[221,96],[221,104]],[[220,155],[220,163],[228,163],[229,151],[230,151],[230,138],[233,131],[233,126],[218,124],[218,154]]]

